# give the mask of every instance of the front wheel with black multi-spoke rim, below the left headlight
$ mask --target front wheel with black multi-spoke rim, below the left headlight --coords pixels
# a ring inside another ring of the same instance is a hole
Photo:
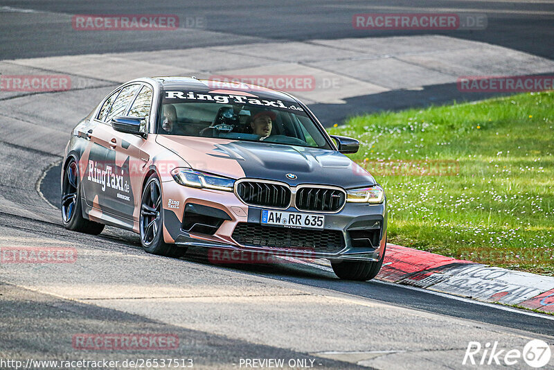
[[[148,178],[141,198],[141,244],[148,253],[173,258],[182,257],[186,253],[185,247],[177,247],[163,241],[162,203],[160,181],[154,174]]]

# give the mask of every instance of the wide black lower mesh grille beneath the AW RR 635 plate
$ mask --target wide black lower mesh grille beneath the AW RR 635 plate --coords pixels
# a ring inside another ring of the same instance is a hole
[[[289,229],[247,222],[237,224],[233,239],[245,246],[302,249],[310,252],[336,253],[344,248],[341,231]]]

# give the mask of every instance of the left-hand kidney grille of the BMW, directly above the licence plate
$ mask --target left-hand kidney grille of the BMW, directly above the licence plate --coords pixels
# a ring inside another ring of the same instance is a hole
[[[244,181],[237,185],[237,194],[246,204],[287,208],[291,193],[285,185]]]

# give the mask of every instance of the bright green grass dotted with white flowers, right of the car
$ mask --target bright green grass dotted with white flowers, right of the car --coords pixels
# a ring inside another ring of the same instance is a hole
[[[359,139],[350,157],[377,171],[389,243],[554,276],[554,92],[357,116],[329,132]],[[390,175],[377,160],[459,167]]]

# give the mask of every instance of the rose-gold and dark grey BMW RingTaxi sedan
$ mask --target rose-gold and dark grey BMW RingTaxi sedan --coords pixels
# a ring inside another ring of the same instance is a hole
[[[373,279],[386,249],[384,190],[300,100],[241,82],[139,78],[71,133],[62,162],[66,229],[140,234],[146,252],[187,247],[327,258]]]

